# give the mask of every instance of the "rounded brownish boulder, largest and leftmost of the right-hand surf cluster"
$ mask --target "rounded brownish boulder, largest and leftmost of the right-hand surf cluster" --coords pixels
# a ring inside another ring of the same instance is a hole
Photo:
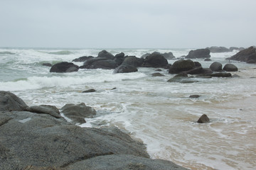
[[[178,60],[174,62],[174,64],[171,65],[169,69],[170,74],[178,74],[180,72],[188,71],[190,69],[193,69],[195,66],[195,63],[192,60]]]

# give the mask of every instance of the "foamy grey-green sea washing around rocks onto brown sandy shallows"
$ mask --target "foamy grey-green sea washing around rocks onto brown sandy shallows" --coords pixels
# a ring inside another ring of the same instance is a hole
[[[138,68],[113,74],[113,69],[79,69],[50,73],[45,62],[71,62],[95,56],[104,49],[0,48],[0,90],[11,91],[28,106],[49,104],[62,108],[82,103],[97,111],[81,127],[117,126],[141,140],[152,159],[166,159],[188,169],[255,169],[256,65],[228,61],[238,51],[210,53],[213,62],[235,64],[232,78],[198,80],[191,84],[167,82],[168,70]],[[105,49],[113,55],[141,57],[145,53],[188,55],[192,49]],[[169,60],[173,64],[176,60]],[[74,62],[82,65],[82,62]],[[152,77],[160,72],[164,77]],[[82,93],[95,89],[95,93]],[[191,95],[199,98],[189,98]],[[196,123],[206,114],[210,123]]]

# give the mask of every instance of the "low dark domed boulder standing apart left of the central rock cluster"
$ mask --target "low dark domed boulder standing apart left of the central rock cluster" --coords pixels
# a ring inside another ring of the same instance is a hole
[[[78,65],[72,62],[59,62],[50,68],[50,72],[78,72]]]

